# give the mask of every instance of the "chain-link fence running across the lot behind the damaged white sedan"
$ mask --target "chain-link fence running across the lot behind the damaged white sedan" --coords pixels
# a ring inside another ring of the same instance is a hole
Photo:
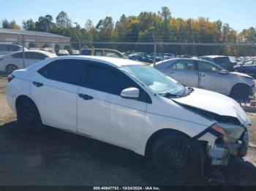
[[[238,102],[249,103],[255,95],[256,44],[207,44],[178,42],[0,42],[0,71],[10,73],[14,69],[25,68],[48,55],[40,55],[28,50],[41,50],[56,55],[110,55],[148,63],[157,68],[169,59],[165,70],[181,84],[200,87],[223,93]],[[108,54],[108,50],[118,50],[121,54]],[[19,52],[17,52],[19,51]],[[12,53],[12,55],[8,55]],[[83,54],[84,55],[84,54]],[[8,58],[9,57],[9,58]],[[194,58],[197,60],[189,60]],[[198,59],[200,59],[198,61]],[[211,63],[217,66],[211,65]],[[165,64],[166,65],[166,64]],[[220,66],[220,67],[219,67]],[[161,67],[160,67],[161,68]],[[226,71],[225,71],[226,70]],[[230,73],[235,72],[235,73]]]

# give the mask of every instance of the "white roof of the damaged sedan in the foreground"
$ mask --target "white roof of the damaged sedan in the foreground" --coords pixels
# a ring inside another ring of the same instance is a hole
[[[95,55],[68,55],[68,56],[61,56],[57,58],[53,58],[56,60],[61,59],[80,59],[80,60],[89,60],[89,61],[95,61],[95,62],[102,62],[106,63],[110,66],[114,67],[122,67],[127,65],[145,65],[144,63],[138,62],[138,61],[132,61],[129,59],[124,58],[113,58],[113,57],[107,57],[107,56],[95,56]]]

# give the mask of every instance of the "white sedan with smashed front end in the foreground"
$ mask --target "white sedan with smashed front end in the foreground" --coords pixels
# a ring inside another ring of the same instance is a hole
[[[20,128],[49,125],[130,149],[177,182],[199,176],[206,161],[227,165],[247,152],[250,121],[236,101],[137,61],[50,58],[8,81]]]

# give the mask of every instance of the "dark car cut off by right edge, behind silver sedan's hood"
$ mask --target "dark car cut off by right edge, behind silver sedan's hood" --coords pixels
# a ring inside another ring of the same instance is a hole
[[[256,60],[244,61],[234,66],[234,71],[256,78]]]

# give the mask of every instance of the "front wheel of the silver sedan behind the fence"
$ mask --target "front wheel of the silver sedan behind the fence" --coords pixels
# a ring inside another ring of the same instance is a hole
[[[235,85],[230,92],[230,97],[235,100],[249,100],[249,95],[249,86],[244,84]]]

